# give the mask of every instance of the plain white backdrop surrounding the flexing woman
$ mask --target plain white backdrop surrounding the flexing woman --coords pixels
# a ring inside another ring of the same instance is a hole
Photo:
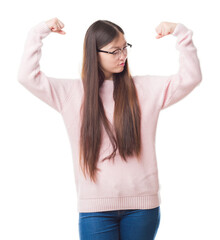
[[[82,44],[96,20],[110,20],[133,44],[132,75],[170,75],[179,53],[172,35],[156,39],[162,21],[193,31],[202,83],[160,114],[156,153],[161,187],[157,240],[220,239],[219,12],[217,1],[1,2],[0,239],[79,239],[70,143],[61,115],[17,81],[27,32],[58,17],[66,35],[43,40],[41,70],[80,76]]]

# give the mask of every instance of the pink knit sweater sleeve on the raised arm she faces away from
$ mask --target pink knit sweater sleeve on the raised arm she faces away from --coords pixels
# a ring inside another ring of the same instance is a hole
[[[49,77],[40,70],[42,39],[50,33],[44,21],[29,30],[17,77],[32,94],[61,112],[74,80]]]

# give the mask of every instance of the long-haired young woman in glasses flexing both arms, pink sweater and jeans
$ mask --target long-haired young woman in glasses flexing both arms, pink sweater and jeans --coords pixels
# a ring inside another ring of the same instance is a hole
[[[155,132],[161,110],[202,80],[192,31],[161,22],[156,38],[177,37],[178,73],[131,76],[124,31],[94,22],[83,45],[81,77],[54,78],[40,70],[42,39],[65,34],[53,18],[28,33],[19,82],[63,117],[71,144],[81,240],[153,240],[160,223]],[[64,61],[62,61],[64,62]]]

